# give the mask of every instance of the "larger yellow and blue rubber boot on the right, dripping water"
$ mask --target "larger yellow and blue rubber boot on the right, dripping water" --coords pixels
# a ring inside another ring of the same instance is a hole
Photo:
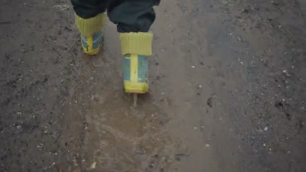
[[[148,92],[148,60],[152,54],[152,33],[121,33],[123,78],[126,93]]]

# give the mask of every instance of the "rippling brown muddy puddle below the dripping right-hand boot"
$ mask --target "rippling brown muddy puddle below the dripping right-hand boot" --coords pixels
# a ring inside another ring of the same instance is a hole
[[[139,101],[142,101],[140,99]],[[170,139],[165,118],[153,104],[132,108],[123,92],[93,96],[87,115],[83,167],[90,171],[147,171],[165,168]],[[159,158],[156,158],[159,157]],[[152,161],[152,159],[155,159]],[[91,164],[95,168],[91,169]]]

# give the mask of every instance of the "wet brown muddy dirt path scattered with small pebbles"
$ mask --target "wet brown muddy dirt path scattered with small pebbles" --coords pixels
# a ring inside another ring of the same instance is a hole
[[[306,170],[303,1],[162,1],[137,108],[115,25],[89,57],[68,1],[0,4],[0,171]]]

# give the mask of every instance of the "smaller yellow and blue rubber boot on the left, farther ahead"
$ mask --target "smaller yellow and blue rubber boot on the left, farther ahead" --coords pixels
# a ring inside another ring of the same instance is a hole
[[[105,18],[105,13],[89,19],[83,19],[75,15],[75,24],[81,33],[82,48],[86,54],[95,55],[99,53],[103,41]]]

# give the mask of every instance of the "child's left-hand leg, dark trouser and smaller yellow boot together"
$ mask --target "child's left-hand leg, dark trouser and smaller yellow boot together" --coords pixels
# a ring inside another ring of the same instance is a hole
[[[71,3],[84,52],[97,54],[103,39],[106,0],[71,0]]]

